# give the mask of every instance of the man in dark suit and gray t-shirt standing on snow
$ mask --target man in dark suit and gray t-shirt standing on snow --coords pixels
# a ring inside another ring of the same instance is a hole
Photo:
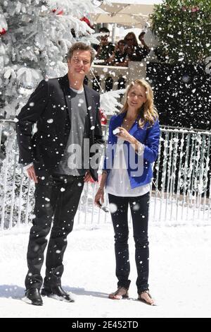
[[[68,74],[39,83],[18,115],[19,162],[35,183],[34,219],[27,249],[25,300],[42,305],[41,295],[73,302],[61,287],[63,255],[84,182],[98,179],[96,145],[103,143],[100,97],[84,85],[94,49],[77,42],[68,52]],[[37,130],[32,135],[32,126]],[[87,142],[88,141],[88,148]],[[88,161],[87,150],[90,151]],[[53,227],[51,223],[53,220]],[[46,276],[41,290],[41,266],[46,236]],[[41,292],[40,292],[41,290]]]

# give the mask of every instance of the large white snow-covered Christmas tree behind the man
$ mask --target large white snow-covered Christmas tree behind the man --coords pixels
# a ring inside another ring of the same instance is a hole
[[[96,6],[90,0],[0,0],[1,117],[15,119],[41,79],[67,73],[65,56],[74,42],[97,42],[94,30],[81,20],[94,11]],[[14,130],[11,124],[4,124],[6,158],[1,158],[0,165],[0,197],[4,208],[0,210],[6,227],[13,224],[11,205],[14,222],[20,209],[21,220],[25,220],[28,191],[27,177],[17,167],[17,160],[14,162],[17,157]],[[33,202],[32,194],[33,188],[30,189]],[[31,206],[29,209],[31,212]]]

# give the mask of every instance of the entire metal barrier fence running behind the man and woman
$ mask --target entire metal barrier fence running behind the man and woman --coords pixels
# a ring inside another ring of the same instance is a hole
[[[210,131],[161,126],[158,160],[153,165],[150,223],[210,225],[210,140]],[[94,206],[97,188],[96,183],[84,185],[75,223],[110,223],[110,214]],[[33,192],[34,184],[18,165],[15,123],[0,120],[0,230],[32,220]]]

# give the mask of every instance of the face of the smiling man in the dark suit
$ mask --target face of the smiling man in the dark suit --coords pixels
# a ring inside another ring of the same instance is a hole
[[[91,54],[89,51],[76,50],[68,60],[69,73],[73,76],[84,77],[91,67]]]

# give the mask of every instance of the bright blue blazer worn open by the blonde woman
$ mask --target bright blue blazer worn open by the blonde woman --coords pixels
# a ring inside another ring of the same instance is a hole
[[[121,113],[118,115],[114,115],[110,118],[109,124],[109,134],[108,134],[108,142],[107,142],[107,149],[106,149],[106,156],[104,158],[104,165],[103,170],[109,172],[110,169],[113,167],[114,162],[114,155],[115,155],[115,147],[117,144],[117,136],[113,134],[113,130],[116,129],[118,126],[122,126],[122,122],[124,119],[125,113]],[[124,144],[127,145],[127,156],[125,157],[128,160],[127,162],[127,172],[129,176],[129,181],[131,184],[131,188],[136,188],[137,186],[143,186],[144,184],[148,184],[151,182],[151,178],[153,177],[153,170],[151,164],[158,158],[158,147],[159,147],[159,140],[160,140],[160,126],[158,120],[155,121],[153,126],[150,126],[148,123],[145,124],[143,128],[139,127],[138,124],[139,118],[136,119],[132,128],[129,130],[129,134],[134,136],[137,141],[143,143],[145,145],[143,151],[143,174],[141,176],[138,174],[136,176],[135,171],[136,168],[131,167],[129,162],[129,151],[134,149],[131,147],[129,148],[130,143],[124,141]],[[111,149],[110,151],[108,151]],[[135,164],[138,165],[140,156],[137,153],[135,155]],[[107,180],[108,180],[107,177]]]

